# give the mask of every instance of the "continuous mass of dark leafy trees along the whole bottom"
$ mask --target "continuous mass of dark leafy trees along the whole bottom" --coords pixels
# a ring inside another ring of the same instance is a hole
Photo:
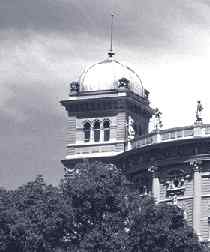
[[[130,186],[114,165],[85,161],[60,187],[38,176],[0,189],[0,251],[204,251],[181,209]]]

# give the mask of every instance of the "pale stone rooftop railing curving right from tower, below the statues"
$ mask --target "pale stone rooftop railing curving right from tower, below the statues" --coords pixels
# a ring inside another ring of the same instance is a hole
[[[131,145],[133,149],[162,142],[192,139],[195,137],[210,137],[210,124],[195,124],[192,126],[154,131],[139,137]]]

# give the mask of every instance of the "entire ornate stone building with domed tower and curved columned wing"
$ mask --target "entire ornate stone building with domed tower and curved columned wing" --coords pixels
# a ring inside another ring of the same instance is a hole
[[[131,68],[109,57],[70,84],[66,169],[84,158],[113,162],[157,202],[177,204],[202,241],[210,239],[210,125],[161,130],[161,113]],[[156,128],[148,132],[155,117]]]

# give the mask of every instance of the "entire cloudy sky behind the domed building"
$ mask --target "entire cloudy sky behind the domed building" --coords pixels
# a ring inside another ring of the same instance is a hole
[[[191,125],[197,100],[210,123],[209,0],[1,0],[0,186],[63,177],[69,83],[107,57],[150,91],[164,128]]]

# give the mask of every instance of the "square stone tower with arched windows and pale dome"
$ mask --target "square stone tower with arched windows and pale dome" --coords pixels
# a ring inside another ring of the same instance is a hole
[[[111,160],[148,132],[149,92],[135,71],[112,56],[87,68],[61,101],[69,118],[66,168],[84,158]]]

